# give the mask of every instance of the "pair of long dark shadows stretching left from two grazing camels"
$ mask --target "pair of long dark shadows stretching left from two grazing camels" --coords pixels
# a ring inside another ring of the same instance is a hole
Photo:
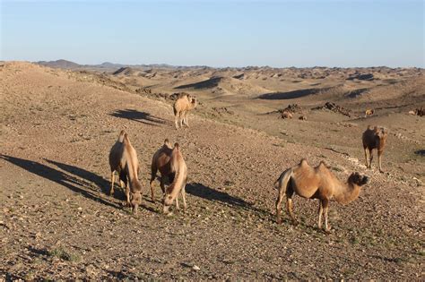
[[[24,158],[15,158],[1,154],[0,158],[3,158],[17,167],[22,167],[34,175],[39,175],[40,177],[55,182],[56,184],[65,186],[73,192],[80,193],[82,196],[92,201],[98,201],[109,207],[121,209],[121,206],[116,202],[108,201],[100,197],[100,190],[104,191],[104,189],[108,186],[108,182],[99,175],[94,175],[93,173],[79,167],[61,164],[48,159],[46,159],[48,163],[56,165],[65,171],[73,171],[73,174],[78,177]],[[122,198],[124,198],[124,196]]]

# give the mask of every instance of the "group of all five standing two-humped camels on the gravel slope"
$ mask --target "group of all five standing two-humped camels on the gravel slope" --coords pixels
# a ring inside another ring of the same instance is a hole
[[[196,107],[196,98],[184,94],[178,97],[174,104],[176,129],[183,124],[188,126],[187,112]],[[362,134],[363,148],[365,150],[366,167],[370,168],[372,162],[372,150],[377,149],[379,172],[383,172],[381,157],[386,145],[388,133],[385,128],[368,126]],[[369,152],[369,154],[368,154]],[[126,189],[126,203],[131,207],[132,212],[137,213],[137,209],[142,202],[142,184],[138,180],[140,172],[137,154],[132,146],[128,134],[123,130],[119,133],[117,142],[109,152],[109,165],[111,171],[110,195],[114,193],[115,173],[119,175],[121,188]],[[157,175],[158,171],[160,176]],[[171,214],[169,207],[176,200],[178,206],[178,194],[183,200],[183,209],[186,210],[187,167],[185,159],[181,153],[178,143],[171,146],[166,139],[159,150],[152,156],[151,165],[151,197],[155,201],[153,183],[156,178],[160,180],[162,191],[162,212]],[[369,176],[352,173],[345,183],[341,182],[326,167],[322,161],[317,167],[308,165],[306,159],[301,159],[298,165],[290,167],[276,180],[274,187],[278,191],[276,207],[276,222],[282,223],[282,201],[286,198],[286,209],[291,217],[292,224],[296,225],[292,211],[292,196],[294,194],[307,199],[317,199],[319,201],[317,226],[322,229],[322,217],[325,218],[325,232],[330,231],[328,225],[329,201],[334,200],[343,204],[350,203],[359,197],[360,189],[368,184]],[[167,185],[167,186],[166,186]]]

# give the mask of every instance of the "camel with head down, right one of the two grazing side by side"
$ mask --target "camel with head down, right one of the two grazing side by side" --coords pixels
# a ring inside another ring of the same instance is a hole
[[[160,170],[160,189],[163,193],[163,213],[169,213],[169,206],[176,199],[176,209],[178,206],[178,192],[183,198],[183,209],[186,210],[186,182],[187,182],[187,167],[186,162],[181,154],[178,143],[174,144],[174,148],[169,146],[169,140],[166,139],[164,144],[157,150],[152,158],[152,174],[151,174],[151,193],[152,201],[154,199],[153,181],[155,180],[157,171]],[[165,183],[169,182],[169,187],[165,188]]]

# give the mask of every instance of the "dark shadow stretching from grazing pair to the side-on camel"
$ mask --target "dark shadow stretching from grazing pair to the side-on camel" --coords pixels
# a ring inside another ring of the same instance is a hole
[[[255,208],[253,207],[252,203],[244,201],[238,197],[231,196],[227,192],[217,191],[215,189],[205,186],[204,184],[199,184],[199,183],[186,184],[186,192],[208,201],[219,201],[231,207],[252,210],[262,214],[270,215],[269,211]]]

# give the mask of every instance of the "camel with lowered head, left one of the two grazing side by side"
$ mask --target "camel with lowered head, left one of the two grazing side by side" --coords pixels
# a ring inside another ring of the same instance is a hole
[[[121,188],[126,187],[126,203],[132,207],[132,212],[136,214],[137,208],[142,202],[142,185],[137,178],[139,161],[124,130],[119,133],[117,142],[109,152],[109,166],[111,171],[109,194],[114,193],[115,172],[117,171]]]

